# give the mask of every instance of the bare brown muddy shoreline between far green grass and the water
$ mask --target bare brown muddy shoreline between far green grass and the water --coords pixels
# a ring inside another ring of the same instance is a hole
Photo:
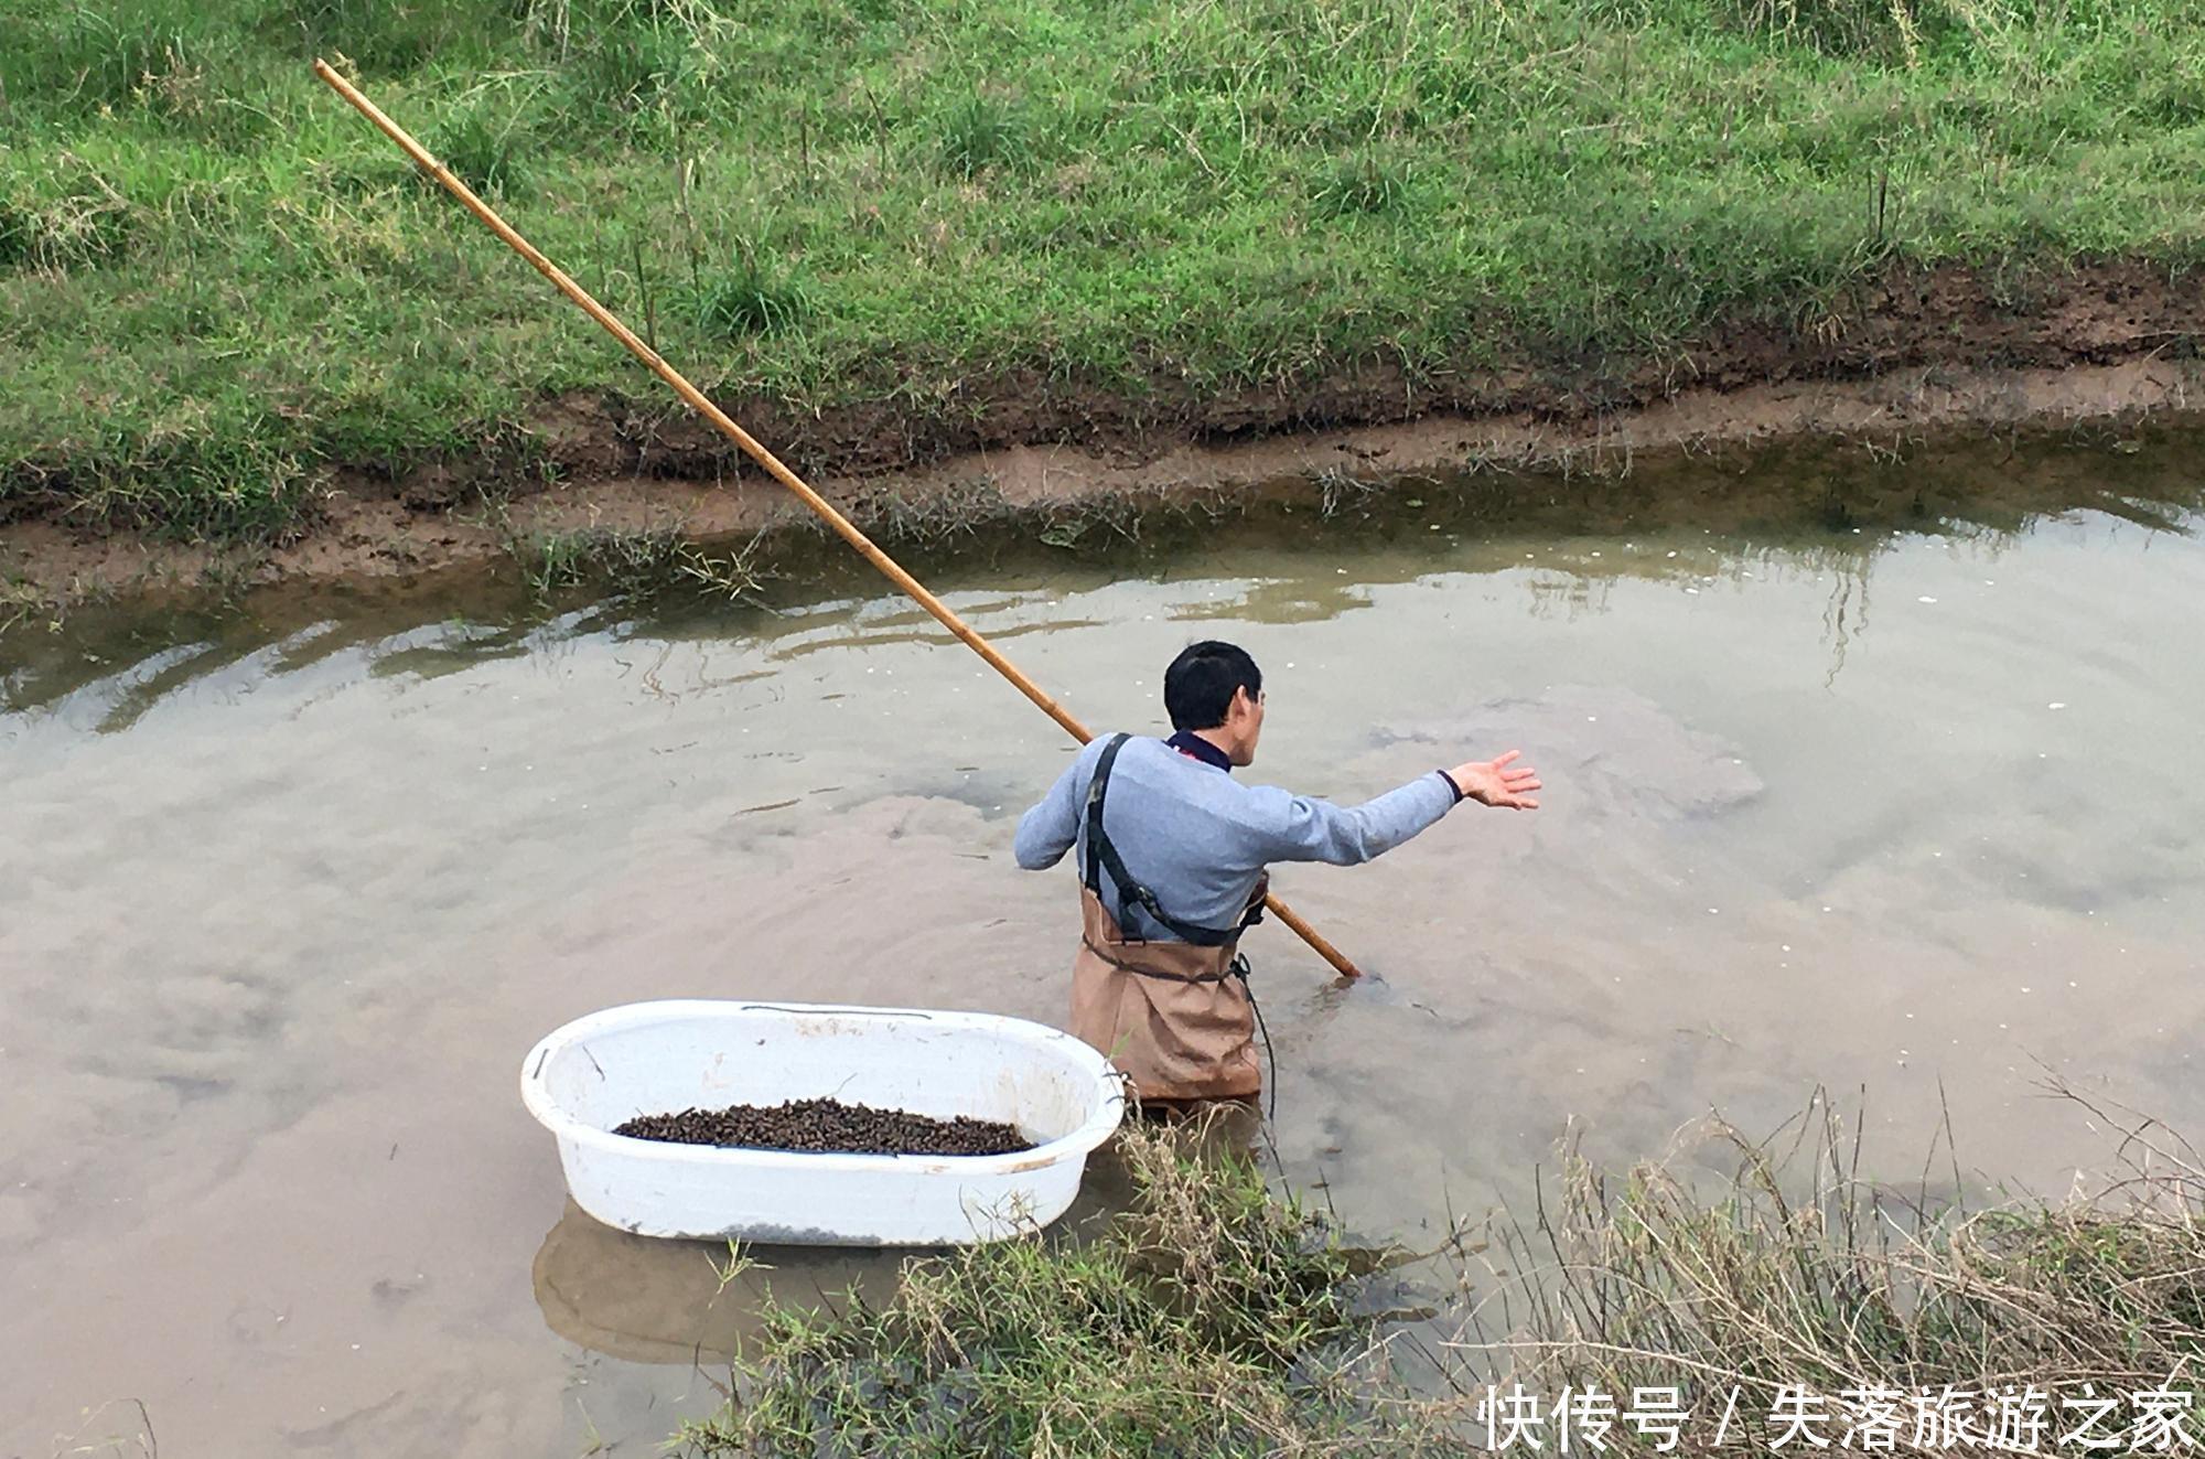
[[[2024,439],[2086,436],[2119,450],[2123,434],[2205,421],[2205,364],[2194,357],[2205,280],[2154,284],[2110,271],[2088,291],[2082,280],[2082,298],[2040,300],[2024,320],[1947,280],[1901,300],[1912,311],[1881,300],[1850,337],[1819,348],[1790,339],[1786,355],[1775,337],[1744,339],[1729,350],[1735,359],[1682,359],[1663,379],[1605,392],[1517,381],[1495,397],[1515,401],[1499,410],[1477,410],[1477,392],[1433,399],[1398,379],[1360,379],[1303,399],[1219,397],[1200,414],[1136,414],[1120,401],[1116,414],[1091,410],[1080,421],[1036,386],[1023,414],[979,412],[948,432],[878,412],[781,421],[759,401],[739,419],[889,540],[975,525],[1043,529],[1105,498],[1215,507],[1281,487],[1327,494],[1338,480],[1365,489],[1475,476],[1504,483],[1486,494],[1491,516],[1508,520],[1517,507],[1535,511],[1555,483],[1577,483],[1579,494],[1585,480],[1634,483],[1632,496],[1645,498],[1665,489],[1660,467],[1691,465],[1667,476],[1700,494],[1711,461],[1744,472],[1773,456],[1815,461],[1795,472],[1797,505],[1813,509],[1832,491],[1832,472],[1874,474],[1940,454],[1971,461],[1984,445],[2011,454]],[[1938,364],[1938,353],[2007,364]],[[1854,368],[1874,372],[1841,377]],[[333,472],[298,540],[278,547],[88,533],[33,505],[0,522],[0,608],[121,593],[234,599],[276,584],[404,591],[459,569],[496,573],[562,536],[730,542],[809,527],[701,421],[642,423],[602,401],[567,399],[547,408],[538,436],[547,458],[527,467]]]

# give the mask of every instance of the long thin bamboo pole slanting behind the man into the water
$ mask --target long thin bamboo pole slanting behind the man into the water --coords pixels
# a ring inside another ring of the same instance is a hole
[[[880,569],[882,577],[886,577],[889,582],[893,582],[895,586],[900,586],[906,595],[911,595],[911,599],[915,604],[919,604],[922,608],[926,608],[928,613],[933,613],[935,619],[944,628],[948,628],[950,633],[955,633],[964,641],[966,648],[970,648],[981,659],[986,659],[988,668],[992,668],[994,672],[1003,674],[1003,679],[1010,679],[1012,688],[1017,688],[1021,694],[1025,694],[1028,699],[1032,699],[1034,705],[1043,714],[1047,714],[1058,725],[1063,725],[1065,732],[1072,738],[1076,738],[1080,745],[1085,745],[1087,741],[1094,738],[1094,734],[1087,732],[1087,725],[1083,725],[1080,721],[1072,718],[1072,714],[1061,703],[1056,703],[1054,699],[1050,699],[1041,690],[1039,683],[1034,683],[1023,672],[1019,672],[1017,663],[1012,663],[1001,652],[997,652],[994,644],[990,644],[988,639],[979,637],[979,633],[975,633],[970,624],[966,624],[961,617],[957,617],[955,613],[950,613],[948,604],[944,604],[939,597],[935,597],[933,593],[928,593],[926,584],[922,584],[917,577],[913,577],[911,573],[906,573],[895,562],[895,558],[891,558],[889,553],[880,551],[880,547],[869,536],[864,536],[862,531],[858,531],[856,522],[851,522],[847,516],[842,516],[840,511],[836,511],[833,502],[829,502],[825,496],[820,496],[809,485],[805,485],[805,480],[796,472],[792,472],[787,465],[783,465],[781,458],[774,456],[770,450],[765,450],[747,430],[743,430],[741,425],[736,425],[734,419],[728,417],[728,412],[723,412],[719,406],[714,406],[710,399],[706,399],[703,390],[699,390],[697,386],[692,386],[688,381],[688,377],[681,375],[681,370],[677,370],[670,364],[666,364],[666,359],[655,348],[650,348],[648,344],[644,344],[642,339],[637,339],[635,331],[631,331],[626,324],[622,324],[613,315],[611,309],[606,309],[604,304],[600,304],[598,300],[593,300],[589,295],[589,291],[582,289],[582,284],[578,284],[571,278],[567,278],[567,273],[558,264],[553,264],[549,258],[545,258],[542,253],[538,253],[536,245],[531,245],[527,238],[523,238],[520,234],[516,234],[514,227],[505,218],[501,218],[496,212],[492,212],[492,207],[487,203],[483,203],[478,196],[474,196],[474,190],[467,187],[465,183],[461,183],[456,176],[452,176],[450,167],[445,167],[434,156],[430,156],[428,148],[423,148],[419,141],[415,141],[406,132],[406,128],[401,128],[397,121],[392,121],[390,117],[386,117],[381,112],[381,108],[377,108],[373,101],[368,101],[364,95],[359,95],[357,86],[353,86],[351,82],[346,82],[342,75],[335,73],[335,68],[331,68],[329,62],[322,62],[322,60],[315,60],[313,73],[318,77],[322,77],[322,82],[326,82],[331,90],[335,90],[340,97],[344,97],[346,101],[351,101],[353,108],[359,110],[362,117],[366,117],[368,121],[373,121],[375,128],[384,137],[388,137],[390,141],[395,141],[406,152],[406,156],[410,156],[415,161],[415,165],[421,167],[421,172],[428,172],[432,179],[437,179],[439,183],[443,183],[443,190],[450,192],[454,198],[459,198],[467,207],[470,214],[474,214],[476,218],[481,218],[483,227],[487,227],[492,234],[496,234],[498,238],[503,238],[505,247],[509,247],[514,253],[520,253],[523,258],[527,258],[536,267],[536,271],[542,273],[547,280],[551,280],[551,284],[560,293],[564,293],[569,300],[573,300],[582,309],[582,313],[587,313],[591,320],[595,320],[598,324],[602,324],[604,331],[609,335],[613,335],[613,339],[620,339],[624,346],[628,346],[628,353],[635,355],[637,359],[642,359],[646,366],[650,366],[653,375],[657,375],[668,386],[673,386],[675,395],[679,395],[684,401],[688,401],[690,408],[697,410],[697,414],[701,414],[706,421],[710,421],[714,428],[719,428],[719,432],[723,436],[728,436],[739,447],[743,447],[743,454],[750,456],[752,461],[756,461],[761,467],[765,467],[767,476],[772,476],[783,487],[787,487],[789,491],[794,491],[796,498],[803,500],[803,505],[811,507],[811,511],[816,511],[820,516],[820,520],[825,520],[829,527],[836,529],[836,536],[840,536],[845,542],[849,542],[851,547],[858,549],[860,558],[864,558],[875,569]],[[1316,928],[1312,928],[1308,921],[1303,921],[1301,915],[1294,912],[1290,906],[1286,906],[1277,897],[1266,897],[1263,906],[1270,908],[1272,917],[1277,917],[1288,928],[1292,928],[1294,934],[1301,937],[1301,941],[1310,943],[1310,948],[1314,948],[1321,959],[1325,959],[1327,963],[1332,963],[1332,968],[1343,979],[1360,979],[1363,976],[1363,970],[1356,968],[1354,963],[1349,963],[1345,952],[1341,952],[1338,948],[1334,948]]]

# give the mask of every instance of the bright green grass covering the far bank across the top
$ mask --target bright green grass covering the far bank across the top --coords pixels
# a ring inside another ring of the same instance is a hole
[[[2205,0],[0,0],[0,518],[271,536],[326,463],[701,383],[1131,401],[1674,359],[1894,260],[2205,249]]]

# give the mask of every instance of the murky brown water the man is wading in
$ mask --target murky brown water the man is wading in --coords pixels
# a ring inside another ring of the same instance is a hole
[[[1096,723],[1153,730],[1222,635],[1268,670],[1266,778],[1546,774],[1537,815],[1281,871],[1376,974],[1252,943],[1294,1184],[1413,1241],[1572,1117],[1621,1159],[1826,1087],[1892,1177],[1949,1106],[1978,1179],[2059,1188],[2108,1144],[2051,1071],[2205,1128],[2196,516],[1521,538],[1409,500],[937,564]],[[714,1296],[708,1250],[569,1210],[516,1098],[542,1031],[633,998],[1061,1014],[1072,879],[1010,835],[1069,745],[838,582],[0,644],[0,1455],[148,1417],[168,1452],[642,1448],[712,1406],[759,1285],[893,1280],[776,1252]]]

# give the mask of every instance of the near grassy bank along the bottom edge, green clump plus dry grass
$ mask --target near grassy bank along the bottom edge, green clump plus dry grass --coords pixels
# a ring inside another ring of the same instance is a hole
[[[721,1459],[1460,1455],[1513,1433],[1506,1448],[1557,1452],[1568,1391],[1616,1402],[1605,1450],[1579,1428],[1563,1452],[1656,1452],[1658,1415],[1627,1415],[1660,1399],[1636,1388],[1678,1388],[1680,1452],[1698,1455],[1771,1452],[1786,1433],[1771,1413],[1801,1415],[1786,1444],[1813,1433],[1832,1452],[1998,1450],[1998,1415],[2037,1404],[2040,1452],[2086,1419],[2123,1450],[2183,1448],[2154,1444],[2154,1413],[2205,1435],[2205,1170],[2163,1131],[2123,1144],[2132,1164],[2097,1199],[1973,1214],[1925,1208],[1927,1184],[1859,1179],[1826,1111],[1806,1133],[1819,1144],[1779,1153],[1718,1124],[1687,1159],[1618,1177],[1566,1159],[1535,1221],[1458,1230],[1444,1311],[1389,1336],[1352,1316],[1369,1263],[1325,1221],[1246,1164],[1131,1131],[1136,1203],[1098,1241],[917,1261],[882,1309],[770,1311],[728,1406],[681,1444]],[[1704,1179],[1722,1164],[1731,1181]],[[1517,1384],[1541,1417],[1508,1428],[1497,1415],[1528,1411],[1495,1395]],[[2084,1393],[2117,1402],[2068,1402]],[[2026,1437],[2026,1417],[2004,1422]]]

